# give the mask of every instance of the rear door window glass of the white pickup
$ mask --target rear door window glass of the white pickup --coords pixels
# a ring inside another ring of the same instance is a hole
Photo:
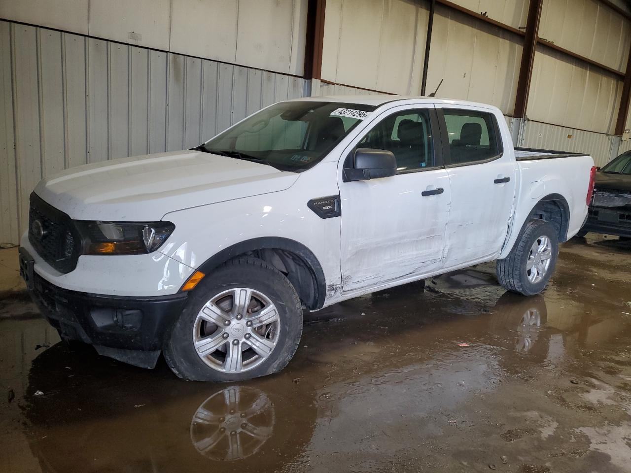
[[[501,154],[495,117],[474,110],[443,109],[452,164],[473,163]]]

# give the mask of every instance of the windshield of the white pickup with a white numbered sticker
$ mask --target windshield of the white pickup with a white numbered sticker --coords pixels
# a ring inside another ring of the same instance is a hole
[[[375,108],[339,102],[276,103],[195,149],[301,172],[322,160]]]

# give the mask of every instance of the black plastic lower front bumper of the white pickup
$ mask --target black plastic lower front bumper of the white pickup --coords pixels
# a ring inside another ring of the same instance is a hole
[[[62,339],[97,346],[112,356],[115,350],[162,349],[165,336],[186,304],[186,294],[157,297],[107,296],[69,291],[33,275],[30,292],[42,315]],[[127,353],[129,354],[129,353]],[[120,356],[122,359],[133,363]],[[156,354],[157,358],[157,354]],[[146,365],[146,363],[144,363]]]

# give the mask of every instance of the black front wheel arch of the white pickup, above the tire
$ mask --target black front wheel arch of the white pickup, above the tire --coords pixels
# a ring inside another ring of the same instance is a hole
[[[324,305],[326,279],[319,260],[309,248],[290,238],[258,237],[235,243],[204,261],[198,271],[209,274],[221,264],[242,255],[254,255],[283,272],[310,310]]]

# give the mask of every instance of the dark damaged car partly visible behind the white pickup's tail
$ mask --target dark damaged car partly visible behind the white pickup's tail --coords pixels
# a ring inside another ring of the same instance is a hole
[[[631,151],[596,173],[594,196],[579,237],[588,231],[631,238]]]

